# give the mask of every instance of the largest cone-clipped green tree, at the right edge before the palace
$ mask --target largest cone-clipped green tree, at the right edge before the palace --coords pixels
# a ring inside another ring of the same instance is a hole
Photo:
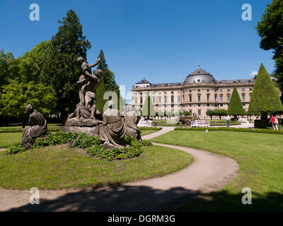
[[[249,112],[260,112],[260,119],[267,119],[267,114],[282,111],[283,106],[279,93],[267,73],[265,66],[260,64],[258,76],[255,78],[253,93],[250,98]]]

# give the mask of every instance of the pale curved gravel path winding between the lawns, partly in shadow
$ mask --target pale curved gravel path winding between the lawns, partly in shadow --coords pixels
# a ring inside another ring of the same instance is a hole
[[[143,136],[154,138],[173,130]],[[40,190],[40,205],[30,205],[28,191],[0,189],[0,210],[12,211],[174,211],[190,198],[216,191],[238,174],[235,160],[204,150],[162,145],[190,153],[194,162],[185,169],[164,177],[131,182],[115,187]]]

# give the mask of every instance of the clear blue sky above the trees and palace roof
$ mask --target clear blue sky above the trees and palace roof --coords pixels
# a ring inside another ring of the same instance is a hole
[[[30,4],[40,20],[29,18]],[[100,49],[118,85],[129,91],[146,78],[151,83],[180,82],[202,69],[216,80],[250,78],[263,63],[274,70],[272,51],[260,49],[255,30],[271,0],[0,0],[0,49],[20,57],[58,30],[58,20],[73,9],[91,42],[88,62]],[[243,21],[243,4],[252,20]]]

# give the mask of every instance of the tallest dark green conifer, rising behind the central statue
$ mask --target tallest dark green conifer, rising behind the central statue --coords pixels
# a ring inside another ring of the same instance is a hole
[[[82,25],[73,10],[59,26],[58,32],[52,37],[50,54],[43,66],[42,80],[54,88],[57,95],[57,108],[61,112],[63,122],[69,112],[74,111],[79,102],[78,80],[81,69],[76,59],[86,59],[86,51],[91,48],[91,43],[83,36]]]

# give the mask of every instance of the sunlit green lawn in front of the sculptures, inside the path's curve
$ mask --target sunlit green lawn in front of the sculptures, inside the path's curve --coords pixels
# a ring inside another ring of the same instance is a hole
[[[0,186],[5,189],[62,189],[120,184],[160,177],[192,162],[187,153],[161,146],[143,147],[139,157],[108,161],[86,150],[57,145],[16,155],[0,153]]]

